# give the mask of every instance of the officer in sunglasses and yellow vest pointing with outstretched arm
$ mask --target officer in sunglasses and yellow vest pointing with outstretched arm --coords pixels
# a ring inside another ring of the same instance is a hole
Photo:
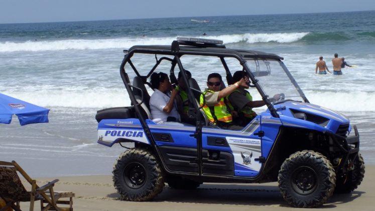
[[[248,88],[248,78],[241,78],[239,81],[235,82],[233,85],[228,86],[220,90],[221,86],[221,75],[218,73],[211,73],[207,77],[207,87],[203,94],[200,96],[200,105],[207,119],[222,129],[228,130],[241,130],[242,127],[234,125],[232,123],[232,115],[225,104],[225,97],[236,90],[238,87]]]

